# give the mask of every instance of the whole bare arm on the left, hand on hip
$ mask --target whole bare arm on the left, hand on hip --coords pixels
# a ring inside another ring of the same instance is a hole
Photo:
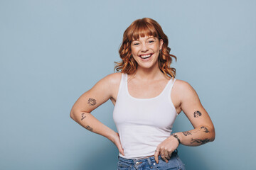
[[[91,114],[95,108],[113,98],[119,89],[120,79],[121,73],[114,73],[98,81],[92,89],[86,91],[75,101],[70,111],[70,117],[87,130],[107,137],[124,155],[118,133],[108,128]]]

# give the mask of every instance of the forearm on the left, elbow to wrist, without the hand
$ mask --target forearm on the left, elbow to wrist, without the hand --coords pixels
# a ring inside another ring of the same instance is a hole
[[[113,142],[113,137],[117,132],[114,132],[114,130],[101,123],[91,113],[71,111],[70,117],[85,129],[107,137],[107,139]]]

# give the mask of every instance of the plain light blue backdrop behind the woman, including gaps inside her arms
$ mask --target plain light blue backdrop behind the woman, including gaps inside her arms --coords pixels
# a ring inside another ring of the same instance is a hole
[[[114,72],[137,18],[169,37],[176,78],[215,125],[214,142],[179,147],[190,169],[255,169],[256,1],[0,0],[0,169],[117,169],[116,147],[70,119],[78,97]],[[116,130],[112,103],[92,112]],[[191,130],[183,113],[174,131]]]

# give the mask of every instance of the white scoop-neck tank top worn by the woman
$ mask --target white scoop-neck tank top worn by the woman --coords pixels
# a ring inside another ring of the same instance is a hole
[[[156,147],[171,135],[178,115],[171,102],[171,89],[176,79],[170,79],[164,90],[154,98],[134,98],[129,95],[127,74],[122,78],[114,106],[113,118],[126,159],[154,155]]]

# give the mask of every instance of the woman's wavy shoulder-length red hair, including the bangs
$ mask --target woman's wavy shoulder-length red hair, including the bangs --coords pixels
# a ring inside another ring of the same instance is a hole
[[[117,72],[133,74],[137,69],[137,62],[132,57],[131,43],[133,40],[138,40],[140,37],[154,36],[159,40],[163,40],[164,44],[159,53],[158,64],[159,69],[166,77],[176,76],[176,69],[170,67],[173,61],[172,57],[177,61],[175,55],[171,55],[171,48],[168,47],[168,38],[164,34],[159,23],[151,18],[142,18],[134,21],[125,31],[123,35],[122,45],[119,49],[119,55],[122,59],[121,62],[114,62]]]

